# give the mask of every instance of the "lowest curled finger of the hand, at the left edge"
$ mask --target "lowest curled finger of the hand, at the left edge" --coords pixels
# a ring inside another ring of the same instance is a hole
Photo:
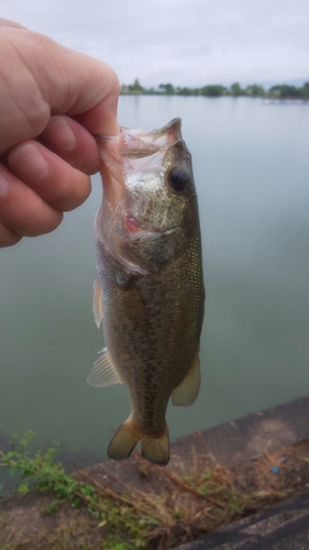
[[[0,165],[0,246],[14,244],[23,235],[48,233],[62,219],[62,212]]]

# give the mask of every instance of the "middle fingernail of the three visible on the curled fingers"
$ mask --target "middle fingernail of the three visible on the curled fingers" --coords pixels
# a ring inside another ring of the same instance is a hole
[[[48,172],[48,163],[33,143],[14,148],[8,156],[9,166],[30,179],[43,179]]]

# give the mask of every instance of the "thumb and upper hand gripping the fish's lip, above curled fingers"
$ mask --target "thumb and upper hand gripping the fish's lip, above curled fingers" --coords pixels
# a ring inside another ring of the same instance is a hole
[[[109,65],[5,20],[0,20],[0,46],[5,148],[37,138],[51,113],[74,117],[95,134],[119,133],[119,80]]]

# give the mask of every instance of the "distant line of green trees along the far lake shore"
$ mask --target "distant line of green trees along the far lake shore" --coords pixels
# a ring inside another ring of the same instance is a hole
[[[258,84],[251,84],[245,88],[242,88],[239,82],[232,84],[229,88],[227,86],[221,86],[220,84],[209,84],[202,86],[201,88],[181,88],[179,86],[173,86],[173,84],[161,84],[157,88],[144,88],[139,78],[135,78],[134,82],[126,86],[121,86],[122,95],[157,95],[157,96],[207,96],[207,97],[271,97],[271,98],[293,98],[293,99],[309,99],[309,81],[305,82],[304,86],[297,88],[296,86],[287,84],[277,84],[272,86],[269,90],[265,90],[263,86]]]

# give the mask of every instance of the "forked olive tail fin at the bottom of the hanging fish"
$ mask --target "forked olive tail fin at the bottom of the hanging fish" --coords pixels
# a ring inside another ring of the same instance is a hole
[[[136,443],[141,440],[142,457],[154,464],[165,466],[169,461],[169,437],[168,429],[165,426],[164,433],[161,437],[143,436],[135,428],[131,417],[123,422],[113,436],[108,455],[112,460],[129,459]]]

